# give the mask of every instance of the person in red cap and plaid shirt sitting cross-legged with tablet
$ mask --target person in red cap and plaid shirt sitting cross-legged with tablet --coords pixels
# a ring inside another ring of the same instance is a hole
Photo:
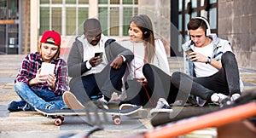
[[[38,108],[45,111],[62,109],[62,94],[67,90],[67,63],[60,56],[61,35],[55,31],[44,32],[38,52],[26,55],[15,78],[15,91],[21,101],[9,104],[10,112]],[[53,66],[53,72],[45,72],[43,64]],[[44,70],[44,71],[43,71]]]

